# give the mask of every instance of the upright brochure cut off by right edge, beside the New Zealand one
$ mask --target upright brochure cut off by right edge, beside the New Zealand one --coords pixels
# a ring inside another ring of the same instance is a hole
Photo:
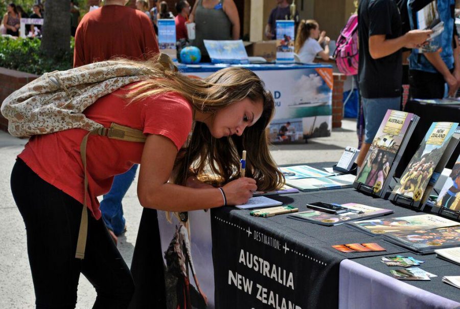
[[[460,156],[455,162],[431,211],[460,220]]]

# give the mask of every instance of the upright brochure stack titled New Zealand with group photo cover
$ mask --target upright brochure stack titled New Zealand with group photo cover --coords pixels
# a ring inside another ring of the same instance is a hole
[[[459,139],[457,122],[433,122],[389,199],[422,208]]]

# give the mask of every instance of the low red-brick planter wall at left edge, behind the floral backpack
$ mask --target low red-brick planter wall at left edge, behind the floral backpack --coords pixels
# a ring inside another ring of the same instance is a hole
[[[0,68],[0,102],[6,99],[13,91],[31,82],[37,75]],[[8,131],[8,120],[0,114],[0,129]]]

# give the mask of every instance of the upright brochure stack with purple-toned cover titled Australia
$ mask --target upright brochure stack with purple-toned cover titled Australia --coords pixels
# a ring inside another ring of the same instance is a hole
[[[388,109],[353,186],[384,197],[417,122],[417,115]]]

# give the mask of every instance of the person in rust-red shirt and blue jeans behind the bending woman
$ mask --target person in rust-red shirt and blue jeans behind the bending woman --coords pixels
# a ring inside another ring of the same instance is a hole
[[[114,56],[145,59],[159,52],[150,19],[124,4],[125,0],[107,0],[101,9],[83,17],[75,36],[74,67]],[[117,235],[125,231],[122,200],[136,170],[137,165],[133,165],[116,176],[101,202],[102,218],[115,242]]]

